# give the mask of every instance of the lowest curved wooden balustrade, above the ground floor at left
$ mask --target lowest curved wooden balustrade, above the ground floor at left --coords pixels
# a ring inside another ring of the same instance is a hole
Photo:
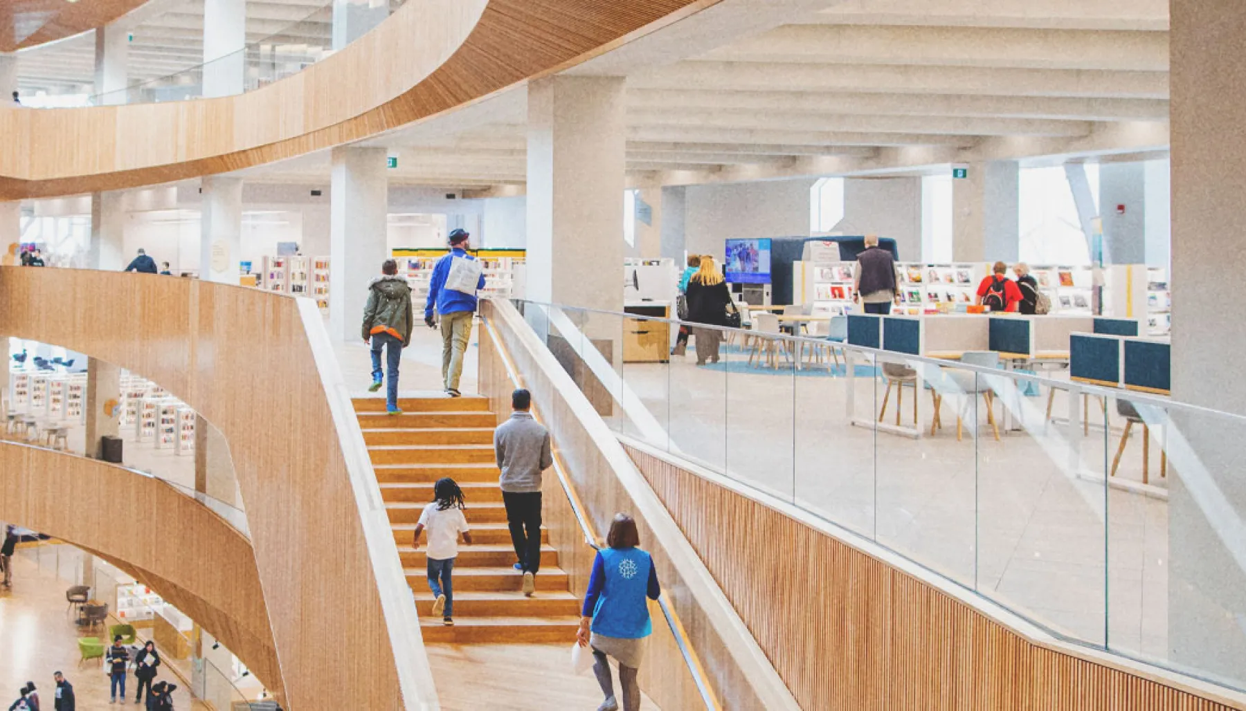
[[[0,520],[131,570],[282,696],[250,542],[202,503],[116,464],[0,442]]]

